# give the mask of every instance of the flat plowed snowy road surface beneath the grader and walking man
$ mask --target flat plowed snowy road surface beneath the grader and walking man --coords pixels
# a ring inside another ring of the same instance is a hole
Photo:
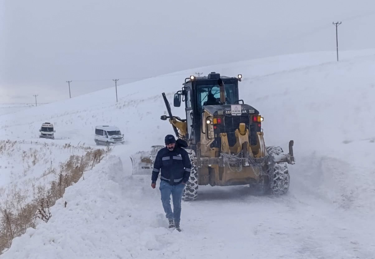
[[[285,196],[252,196],[247,186],[200,186],[199,198],[182,204],[182,237],[156,236],[158,253],[173,258],[374,258],[374,213],[351,210],[350,197],[338,194],[332,203],[318,190],[297,186],[306,181],[302,170],[307,165],[301,162],[290,167]],[[315,175],[323,177],[319,171]],[[141,194],[138,208],[149,211],[141,221],[166,228],[160,192],[151,189],[150,177],[125,181],[126,196]]]

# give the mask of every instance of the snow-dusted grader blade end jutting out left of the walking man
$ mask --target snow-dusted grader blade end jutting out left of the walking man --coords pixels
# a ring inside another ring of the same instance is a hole
[[[157,151],[164,146],[151,146],[151,151],[139,151],[130,156],[132,160],[132,175],[151,175]]]

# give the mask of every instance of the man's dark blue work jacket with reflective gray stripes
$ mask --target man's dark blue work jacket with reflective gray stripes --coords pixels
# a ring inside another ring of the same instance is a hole
[[[156,182],[159,172],[161,172],[160,180],[171,185],[186,183],[189,180],[190,171],[191,163],[186,150],[178,145],[172,151],[165,147],[157,152],[151,181]]]

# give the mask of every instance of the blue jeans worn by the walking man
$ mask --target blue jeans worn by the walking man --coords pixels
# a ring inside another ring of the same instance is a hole
[[[165,217],[167,219],[174,219],[175,223],[180,223],[181,216],[181,198],[182,192],[185,185],[180,183],[177,185],[170,185],[166,181],[160,181],[160,194],[162,199],[162,204],[165,212]],[[171,194],[173,201],[173,212],[171,208]]]

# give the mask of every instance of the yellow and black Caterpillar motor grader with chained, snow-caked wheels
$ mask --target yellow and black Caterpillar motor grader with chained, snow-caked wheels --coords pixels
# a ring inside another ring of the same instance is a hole
[[[183,199],[195,200],[198,186],[247,185],[257,194],[288,192],[290,175],[288,164],[294,164],[293,140],[289,153],[281,147],[266,147],[261,129],[263,117],[254,107],[239,99],[236,77],[190,76],[182,90],[174,95],[174,106],[185,103],[185,118],[173,116],[165,93],[162,93],[169,120],[178,137],[177,144],[186,149],[192,163],[190,179]],[[242,102],[242,103],[241,103]],[[133,174],[152,174],[157,151],[138,152],[130,158]]]

